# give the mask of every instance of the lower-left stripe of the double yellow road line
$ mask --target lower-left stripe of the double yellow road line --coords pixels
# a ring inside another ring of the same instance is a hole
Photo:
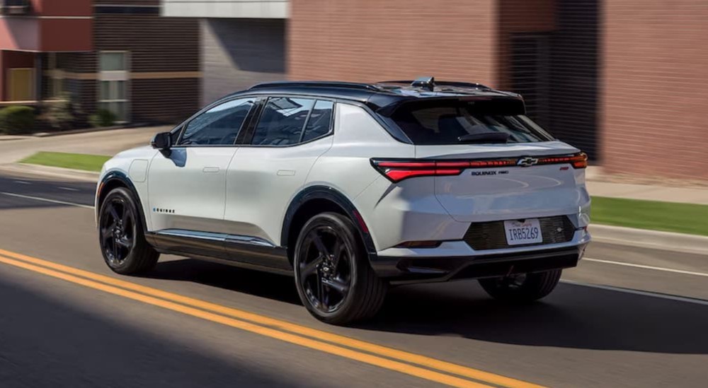
[[[295,343],[299,346],[304,346],[306,348],[315,349],[318,351],[323,351],[325,353],[330,353],[334,355],[339,355],[344,358],[350,358],[351,360],[357,360],[362,363],[367,363],[370,365],[375,365],[379,368],[385,368],[388,370],[394,370],[396,372],[405,373],[406,375],[411,375],[415,377],[420,377],[421,379],[430,380],[433,382],[439,382],[442,384],[450,385],[451,387],[462,387],[462,388],[489,388],[489,385],[479,384],[469,380],[464,380],[459,377],[445,375],[439,372],[434,372],[432,370],[427,370],[423,368],[418,368],[413,365],[408,365],[404,363],[399,363],[398,361],[389,360],[387,358],[378,357],[376,355],[370,355],[367,353],[360,353],[358,351],[353,351],[348,348],[341,348],[339,346],[331,345],[330,343],[315,341],[314,339],[309,339],[307,337],[296,336],[295,334],[285,333],[276,329],[271,329],[269,327],[258,326],[249,322],[241,321],[239,319],[233,319],[229,317],[224,317],[223,315],[214,314],[212,312],[206,312],[204,310],[198,310],[194,307],[188,307],[185,305],[180,305],[175,302],[169,302],[167,300],[162,300],[159,298],[154,298],[148,295],[142,295],[129,290],[123,290],[122,288],[108,286],[103,283],[98,283],[96,281],[91,281],[84,278],[79,278],[78,276],[64,274],[59,271],[54,271],[52,269],[47,269],[41,266],[35,266],[33,264],[28,264],[24,261],[8,259],[6,257],[0,256],[0,263],[9,264],[11,266],[18,266],[29,271],[38,272],[47,276],[52,276],[54,278],[59,278],[64,281],[71,283],[80,284],[81,286],[86,286],[96,290],[101,290],[105,293],[111,293],[113,295],[120,295],[123,298],[128,298],[132,300],[137,300],[139,302],[144,302],[149,305],[163,307],[167,310],[172,310],[176,312],[181,312],[182,314],[191,315],[193,317],[198,317],[201,319],[206,319],[207,321],[217,322],[219,324],[224,324],[230,327],[235,327],[236,329],[241,329],[244,331],[250,331],[251,333],[260,334],[261,336],[267,336],[273,339],[279,339],[280,341]]]

